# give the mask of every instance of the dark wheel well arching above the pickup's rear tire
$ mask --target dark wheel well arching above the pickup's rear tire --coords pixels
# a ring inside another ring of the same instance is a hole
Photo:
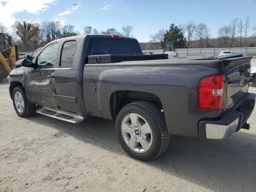
[[[163,109],[160,98],[155,94],[141,91],[116,91],[110,96],[110,113],[112,119],[116,119],[118,112],[127,104],[136,101],[147,101]]]

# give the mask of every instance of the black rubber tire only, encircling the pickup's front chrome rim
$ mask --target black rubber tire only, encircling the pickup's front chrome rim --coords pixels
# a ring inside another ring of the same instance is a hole
[[[23,97],[23,100],[24,100],[24,111],[23,112],[19,112],[18,109],[16,108],[16,105],[15,105],[16,92],[20,92]],[[30,103],[28,101],[28,98],[26,96],[23,86],[17,86],[14,88],[13,93],[12,93],[12,103],[13,103],[14,109],[15,109],[16,113],[18,114],[18,116],[28,117],[28,116],[34,115],[36,112],[36,104]]]

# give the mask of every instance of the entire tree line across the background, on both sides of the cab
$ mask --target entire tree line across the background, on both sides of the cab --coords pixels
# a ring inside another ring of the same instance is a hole
[[[64,25],[59,21],[49,22],[19,22],[12,26],[13,43],[18,44],[20,51],[31,52],[42,47],[48,42],[68,36],[80,35],[74,30],[73,25]],[[134,37],[134,26],[122,26],[121,31],[116,28],[108,28],[98,31],[92,26],[84,26],[83,34],[119,34],[126,37]],[[248,37],[248,32],[256,32],[256,25],[250,28],[250,18],[245,20],[234,18],[230,24],[222,26],[218,30],[218,37],[212,38],[211,29],[205,23],[195,24],[190,20],[186,24],[170,24],[168,30],[160,29],[150,35],[150,42],[173,42],[175,48],[211,48],[211,47],[243,47],[256,46],[256,36]],[[0,32],[8,34],[5,26],[0,25]]]

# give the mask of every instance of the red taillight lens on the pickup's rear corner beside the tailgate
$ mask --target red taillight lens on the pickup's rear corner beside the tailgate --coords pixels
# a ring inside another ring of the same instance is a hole
[[[199,110],[220,110],[223,105],[224,74],[202,78],[198,84],[197,108]]]

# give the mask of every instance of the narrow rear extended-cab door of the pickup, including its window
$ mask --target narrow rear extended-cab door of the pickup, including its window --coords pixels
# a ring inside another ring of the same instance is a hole
[[[76,75],[81,41],[62,40],[59,68],[54,72],[55,100],[60,110],[80,114]],[[82,85],[80,85],[82,87]]]

